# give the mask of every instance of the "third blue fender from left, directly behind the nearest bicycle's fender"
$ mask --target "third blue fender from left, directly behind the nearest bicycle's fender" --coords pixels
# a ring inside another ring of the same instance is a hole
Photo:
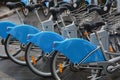
[[[42,49],[45,54],[48,54],[53,50],[52,47],[54,41],[64,40],[61,35],[50,31],[39,32],[32,35],[29,34],[28,36],[28,41]]]

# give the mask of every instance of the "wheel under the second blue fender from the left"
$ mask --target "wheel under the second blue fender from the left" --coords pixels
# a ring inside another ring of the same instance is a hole
[[[19,65],[26,65],[25,46],[22,45],[16,38],[13,38],[10,34],[5,40],[5,51],[7,56],[13,62]]]

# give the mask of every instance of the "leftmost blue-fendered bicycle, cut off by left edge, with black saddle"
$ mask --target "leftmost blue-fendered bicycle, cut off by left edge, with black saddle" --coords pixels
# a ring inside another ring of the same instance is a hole
[[[10,3],[11,4],[11,3]],[[13,6],[13,8],[12,7],[9,7],[9,9],[14,9],[14,8],[19,8],[19,7],[22,7],[23,5],[21,4],[21,3],[19,3],[19,2],[15,2],[15,4],[14,5],[17,5],[16,7],[14,7]],[[11,6],[12,6],[12,4],[11,4]],[[18,15],[18,18],[19,18],[19,20],[20,20],[20,23],[23,23],[23,20],[21,19],[21,16],[20,16],[20,14],[19,14],[19,12],[18,12],[18,9],[15,9],[15,12],[17,13],[17,15]],[[7,38],[7,27],[9,26],[9,27],[15,27],[17,24],[16,23],[14,23],[14,22],[11,22],[11,21],[1,21],[0,22],[0,26],[1,26],[1,30],[0,30],[0,36],[1,36],[1,38],[2,38],[2,40],[1,40],[1,43],[2,43],[2,45],[4,45],[5,44],[5,39]],[[8,56],[5,54],[5,51],[3,51],[3,54],[0,54],[0,57],[1,58],[8,58]]]

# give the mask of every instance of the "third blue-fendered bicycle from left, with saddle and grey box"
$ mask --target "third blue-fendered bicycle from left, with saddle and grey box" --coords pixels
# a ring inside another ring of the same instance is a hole
[[[60,15],[62,11],[66,10],[66,7],[63,7],[62,5],[62,7],[60,8],[53,8],[51,10],[52,10],[51,12],[54,15],[53,19],[57,20],[58,17],[60,17],[61,22],[64,26],[63,30],[61,31],[61,35],[66,38],[78,37],[76,33],[78,29],[76,29],[77,27],[75,26],[75,24],[72,23],[66,26]],[[98,23],[96,23],[96,25],[97,24]],[[43,35],[44,37],[47,36],[47,39],[44,38]],[[49,62],[52,56],[51,54],[52,43],[53,41],[55,41],[53,39],[56,39],[57,35],[54,36],[53,33],[45,31],[45,32],[40,32],[40,33],[32,34],[32,35],[28,34],[28,36],[30,38],[28,39],[30,43],[28,44],[26,48],[26,54],[25,54],[25,59],[26,59],[28,67],[30,68],[32,72],[34,72],[38,76],[43,76],[43,77],[51,76],[50,69],[49,69],[49,64],[50,64]],[[52,39],[50,39],[51,37]]]

